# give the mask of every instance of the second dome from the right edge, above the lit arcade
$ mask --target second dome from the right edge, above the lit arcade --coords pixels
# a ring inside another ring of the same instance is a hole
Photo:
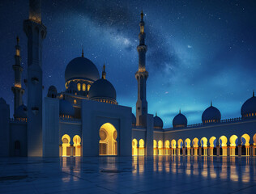
[[[218,108],[212,106],[207,108],[202,115],[203,123],[217,123],[220,122],[221,114]]]

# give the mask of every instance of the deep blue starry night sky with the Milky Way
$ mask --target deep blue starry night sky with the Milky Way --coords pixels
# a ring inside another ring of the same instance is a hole
[[[219,108],[222,119],[241,116],[256,88],[256,2],[51,0],[42,2],[47,27],[43,43],[44,96],[49,86],[65,90],[66,65],[75,57],[93,61],[117,91],[117,102],[135,112],[140,12],[145,14],[148,112],[172,127],[181,108],[188,124]],[[19,35],[23,78],[27,74],[28,0],[0,1],[0,96],[13,115],[15,37]],[[25,86],[23,85],[23,88]],[[26,88],[25,88],[26,89]],[[24,95],[24,103],[27,97]]]

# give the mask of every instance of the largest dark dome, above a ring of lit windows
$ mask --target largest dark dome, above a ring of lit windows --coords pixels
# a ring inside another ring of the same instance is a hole
[[[100,78],[100,74],[96,65],[85,57],[76,57],[66,65],[65,80],[72,79],[86,79],[89,81],[96,81]]]

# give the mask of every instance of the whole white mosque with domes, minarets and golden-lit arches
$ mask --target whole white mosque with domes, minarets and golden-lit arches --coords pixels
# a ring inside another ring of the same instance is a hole
[[[202,123],[187,124],[181,112],[173,128],[164,129],[159,116],[147,112],[146,53],[143,12],[139,22],[139,69],[136,116],[117,102],[117,94],[104,69],[86,57],[66,65],[66,91],[50,86],[43,97],[42,42],[47,29],[41,21],[41,0],[29,1],[29,18],[23,21],[28,36],[28,72],[22,84],[19,38],[15,46],[14,116],[0,99],[0,155],[28,157],[80,157],[99,155],[255,156],[256,97],[246,100],[241,116],[221,120],[211,106]],[[25,89],[23,88],[25,86]],[[23,94],[27,92],[27,105]]]

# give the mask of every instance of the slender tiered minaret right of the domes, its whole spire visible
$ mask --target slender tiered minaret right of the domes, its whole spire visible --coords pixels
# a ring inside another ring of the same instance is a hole
[[[147,126],[147,99],[146,99],[146,82],[148,73],[146,70],[146,53],[147,45],[145,45],[146,34],[144,32],[143,11],[141,11],[141,20],[139,23],[139,46],[137,50],[139,53],[139,70],[135,74],[138,81],[138,100],[136,103],[136,125]]]

